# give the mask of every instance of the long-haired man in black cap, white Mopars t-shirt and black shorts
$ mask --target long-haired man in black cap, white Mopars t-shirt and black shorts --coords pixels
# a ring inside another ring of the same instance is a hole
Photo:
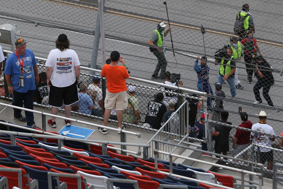
[[[71,105],[79,101],[78,80],[80,76],[80,61],[77,53],[69,48],[67,35],[60,34],[55,41],[56,49],[50,51],[45,63],[47,85],[50,87],[48,105],[51,113],[56,115],[64,100],[65,115],[70,117]],[[56,127],[55,117],[47,121],[51,127]],[[71,122],[65,120],[65,125]]]

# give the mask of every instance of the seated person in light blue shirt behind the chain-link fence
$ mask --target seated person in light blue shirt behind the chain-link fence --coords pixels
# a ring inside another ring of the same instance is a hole
[[[86,93],[88,90],[86,83],[80,84],[80,92],[78,93],[80,101],[79,112],[91,115],[91,110],[93,109],[93,102],[91,97]]]

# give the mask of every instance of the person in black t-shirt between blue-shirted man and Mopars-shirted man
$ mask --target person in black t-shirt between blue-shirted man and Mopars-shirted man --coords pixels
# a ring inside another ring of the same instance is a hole
[[[46,72],[42,72],[39,74],[40,83],[36,85],[35,94],[34,94],[34,101],[38,104],[41,104],[42,99],[48,96],[49,90],[46,82]]]

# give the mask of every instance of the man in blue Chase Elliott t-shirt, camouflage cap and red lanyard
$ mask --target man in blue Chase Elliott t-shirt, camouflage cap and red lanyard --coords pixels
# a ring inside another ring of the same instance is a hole
[[[23,38],[16,39],[16,50],[7,58],[4,74],[9,92],[13,96],[13,105],[23,107],[24,102],[25,108],[33,110],[35,84],[38,84],[39,76],[37,61],[26,43]],[[25,111],[26,117],[21,112],[22,110],[14,109],[15,120],[27,122],[27,126],[38,128],[32,112]]]

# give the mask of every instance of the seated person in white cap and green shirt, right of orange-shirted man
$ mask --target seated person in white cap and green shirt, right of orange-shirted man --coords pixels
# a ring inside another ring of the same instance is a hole
[[[141,115],[139,113],[139,100],[134,97],[136,87],[129,85],[128,91],[128,107],[123,110],[123,122],[137,124],[141,120]]]

